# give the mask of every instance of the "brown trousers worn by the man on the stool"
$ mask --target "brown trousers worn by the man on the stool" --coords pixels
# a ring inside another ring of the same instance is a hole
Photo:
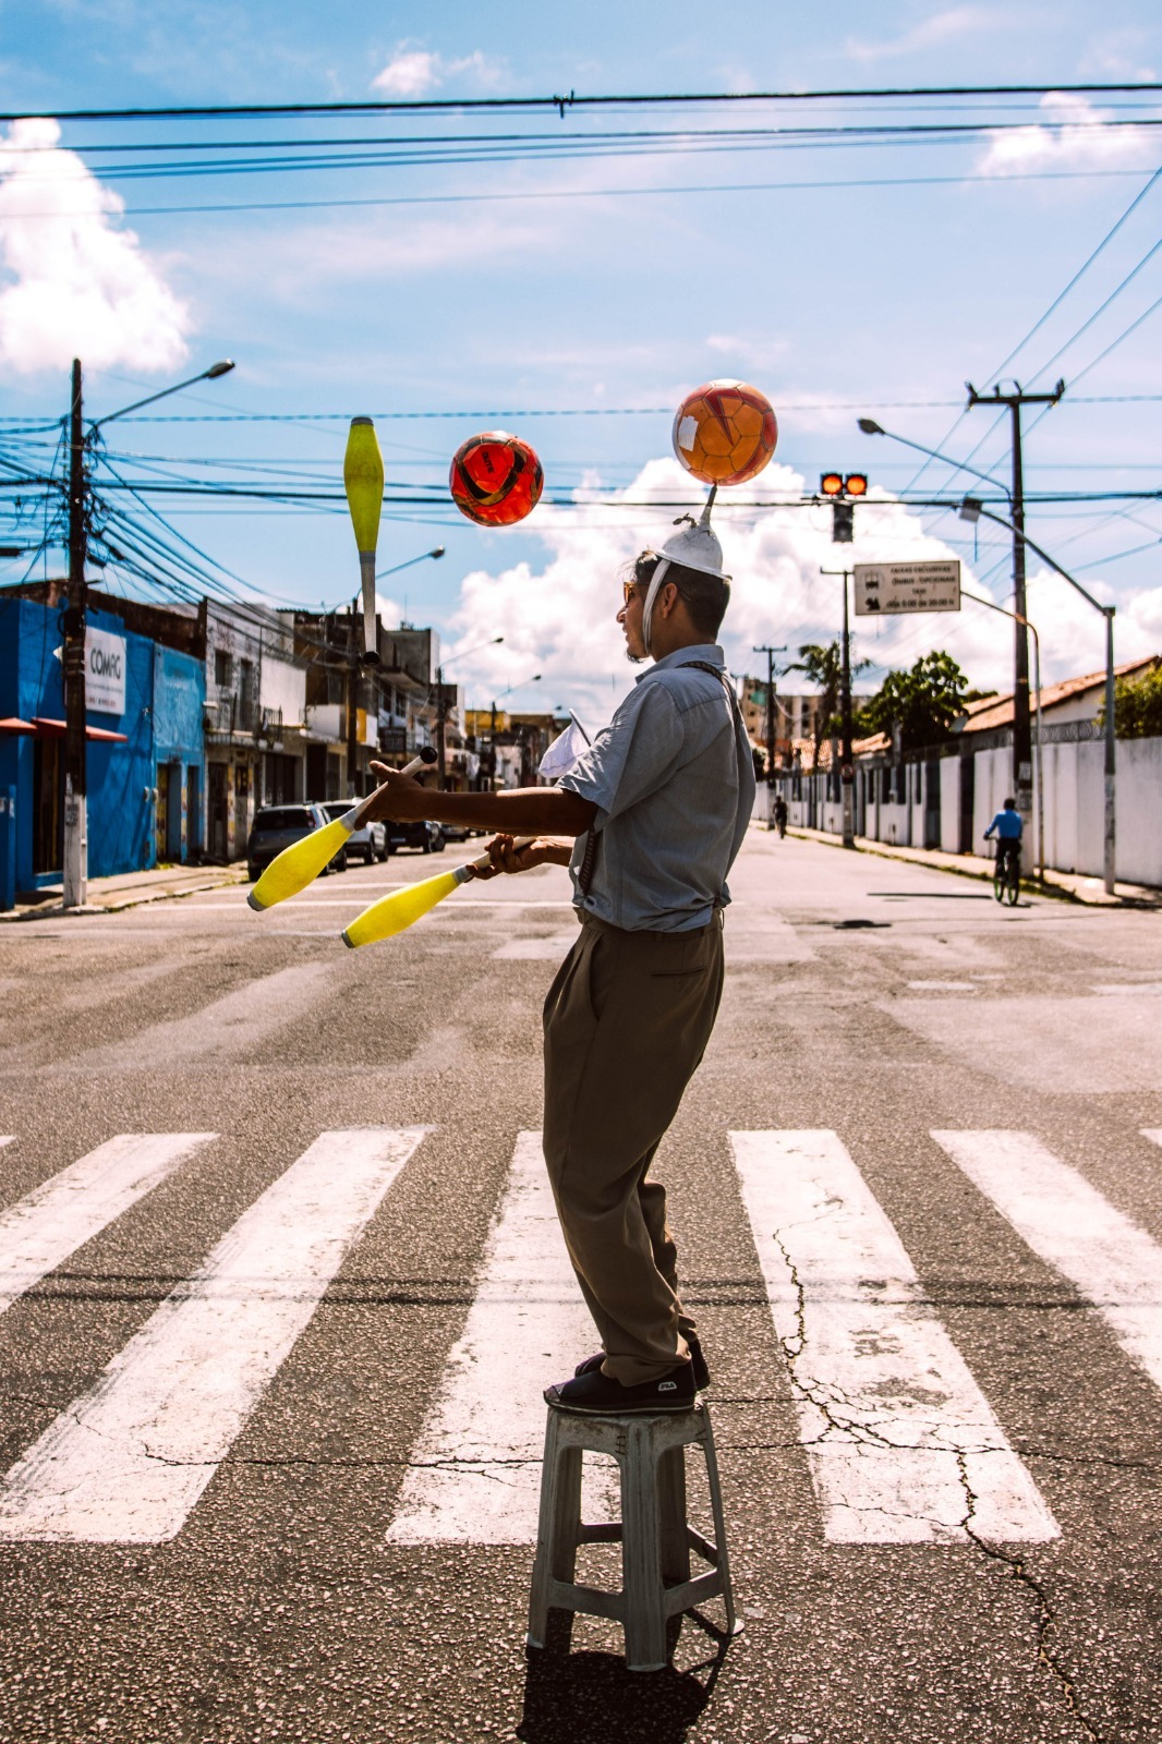
[[[626,1386],[689,1355],[666,1195],[646,1175],[721,998],[721,914],[694,933],[584,916],[544,1001],[544,1162],[604,1373]]]

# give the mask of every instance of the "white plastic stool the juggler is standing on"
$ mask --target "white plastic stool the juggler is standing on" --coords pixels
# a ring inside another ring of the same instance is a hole
[[[686,1449],[698,1444],[707,1461],[717,1543],[686,1523]],[[621,1474],[621,1519],[607,1526],[581,1521],[581,1454],[611,1454]],[[578,1545],[621,1545],[621,1592],[574,1582]],[[691,1578],[689,1552],[710,1563]],[[544,1646],[550,1610],[612,1617],[625,1629],[628,1671],[661,1671],[666,1622],[703,1599],[722,1598],[726,1632],[735,1622],[731,1571],[710,1411],[658,1416],[607,1416],[550,1406],[541,1472],[541,1521],[529,1599],[529,1646]]]

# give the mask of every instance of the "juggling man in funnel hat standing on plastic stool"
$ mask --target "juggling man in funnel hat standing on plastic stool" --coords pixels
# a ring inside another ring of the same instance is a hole
[[[440,794],[373,764],[370,816],[497,830],[478,875],[572,874],[581,931],[544,1001],[544,1160],[602,1350],[546,1390],[567,1411],[689,1411],[708,1383],[649,1167],[714,1029],[726,875],[754,804],[715,640],[728,602],[707,504],[633,563],[618,623],[653,666],[558,787]]]

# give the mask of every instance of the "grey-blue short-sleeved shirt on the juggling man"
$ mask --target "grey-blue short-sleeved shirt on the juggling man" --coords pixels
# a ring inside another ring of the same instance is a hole
[[[731,900],[726,874],[750,821],[754,760],[742,715],[722,680],[691,661],[726,668],[714,642],[663,656],[560,783],[597,806],[593,877],[586,895],[588,835],[579,835],[574,902],[630,933],[705,926]]]

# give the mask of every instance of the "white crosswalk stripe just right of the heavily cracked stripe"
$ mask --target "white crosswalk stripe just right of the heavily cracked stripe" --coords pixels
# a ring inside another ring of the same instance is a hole
[[[1029,1132],[932,1137],[1162,1386],[1162,1247]]]

